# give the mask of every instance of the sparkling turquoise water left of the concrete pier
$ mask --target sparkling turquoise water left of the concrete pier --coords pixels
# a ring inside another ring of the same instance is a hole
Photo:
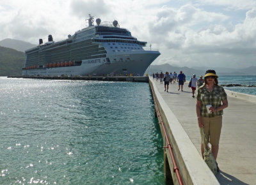
[[[165,184],[146,83],[0,77],[0,184]]]

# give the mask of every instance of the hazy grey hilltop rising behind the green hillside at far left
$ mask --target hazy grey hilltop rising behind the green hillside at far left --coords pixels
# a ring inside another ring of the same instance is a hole
[[[25,50],[36,47],[36,45],[28,43],[26,41],[21,41],[21,40],[15,40],[15,39],[10,39],[6,38],[4,40],[0,41],[0,46],[1,47],[6,47],[6,48],[13,48],[15,50],[18,50],[20,52],[25,52]]]

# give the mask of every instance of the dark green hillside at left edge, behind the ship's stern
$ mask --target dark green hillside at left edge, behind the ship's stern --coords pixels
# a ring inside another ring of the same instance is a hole
[[[21,76],[25,53],[12,48],[0,47],[0,76]]]

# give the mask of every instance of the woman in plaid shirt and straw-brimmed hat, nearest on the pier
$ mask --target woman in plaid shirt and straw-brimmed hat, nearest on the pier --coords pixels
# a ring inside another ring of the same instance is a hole
[[[204,138],[202,134],[202,129],[204,129],[207,142],[211,143],[211,152],[215,161],[219,151],[223,109],[228,107],[227,94],[223,87],[218,85],[217,78],[218,76],[214,70],[207,70],[204,76],[205,84],[198,88],[196,96],[196,115],[201,134],[202,156],[204,158]],[[210,108],[207,108],[208,106]],[[217,172],[220,172],[217,162],[216,165]]]

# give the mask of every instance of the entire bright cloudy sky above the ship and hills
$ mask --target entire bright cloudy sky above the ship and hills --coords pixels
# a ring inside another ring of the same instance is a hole
[[[152,64],[256,66],[256,0],[0,0],[0,40],[64,40],[89,13],[159,50]]]

